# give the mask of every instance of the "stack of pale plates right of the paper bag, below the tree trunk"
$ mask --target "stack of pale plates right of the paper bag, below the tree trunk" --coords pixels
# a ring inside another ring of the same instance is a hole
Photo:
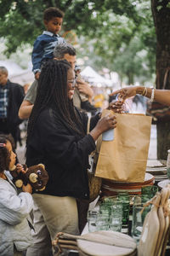
[[[159,160],[149,160],[146,166],[146,172],[155,177],[156,183],[167,179],[167,166],[161,164]]]

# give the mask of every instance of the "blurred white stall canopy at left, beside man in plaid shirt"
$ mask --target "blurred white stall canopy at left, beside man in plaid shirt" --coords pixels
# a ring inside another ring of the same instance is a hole
[[[8,79],[11,82],[21,85],[31,84],[34,81],[34,74],[31,68],[23,69],[13,61],[0,61],[0,67],[6,67],[8,69]]]

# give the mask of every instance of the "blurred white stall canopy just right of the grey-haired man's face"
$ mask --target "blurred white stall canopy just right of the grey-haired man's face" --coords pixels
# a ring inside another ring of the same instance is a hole
[[[82,78],[88,81],[89,84],[96,86],[112,86],[111,79],[105,79],[99,73],[95,72],[92,67],[85,67],[81,72]]]

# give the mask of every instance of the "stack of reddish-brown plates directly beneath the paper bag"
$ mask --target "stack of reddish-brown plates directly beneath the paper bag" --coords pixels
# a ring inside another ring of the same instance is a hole
[[[141,188],[151,186],[155,182],[155,178],[150,173],[145,173],[144,183],[122,183],[103,179],[101,192],[102,196],[117,195],[120,192],[128,192],[131,195],[141,194]]]

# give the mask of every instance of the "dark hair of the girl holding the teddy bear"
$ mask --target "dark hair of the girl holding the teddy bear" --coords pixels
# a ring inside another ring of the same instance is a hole
[[[0,137],[0,172],[8,170],[10,163],[10,155],[6,148],[8,140],[5,137]]]

